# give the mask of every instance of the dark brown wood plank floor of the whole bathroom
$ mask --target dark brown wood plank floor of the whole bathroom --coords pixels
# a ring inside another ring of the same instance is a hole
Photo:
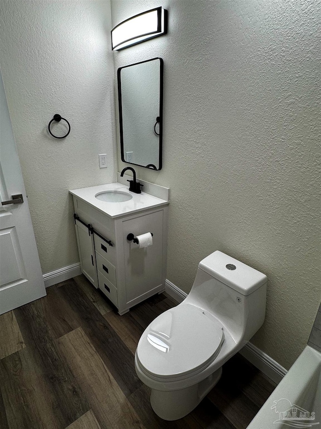
[[[0,316],[0,428],[244,429],[275,385],[240,355],[201,404],[168,422],[135,374],[145,327],[175,303],[156,295],[119,316],[83,277]]]

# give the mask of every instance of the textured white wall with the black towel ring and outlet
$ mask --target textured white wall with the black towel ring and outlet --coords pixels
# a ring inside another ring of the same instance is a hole
[[[109,0],[1,1],[0,65],[43,273],[79,261],[68,190],[116,180],[110,20]],[[47,131],[55,113],[66,139]]]

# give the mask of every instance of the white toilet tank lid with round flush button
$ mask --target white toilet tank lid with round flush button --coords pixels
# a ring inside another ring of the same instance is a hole
[[[265,274],[216,250],[206,256],[199,268],[242,295],[250,295],[267,282]]]

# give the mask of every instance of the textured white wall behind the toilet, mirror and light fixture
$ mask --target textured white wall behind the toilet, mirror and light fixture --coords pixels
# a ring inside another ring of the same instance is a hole
[[[216,249],[265,273],[266,321],[252,341],[288,368],[321,298],[320,3],[161,4],[169,34],[114,59],[115,70],[165,62],[164,168],[137,173],[171,188],[167,277],[189,292]],[[112,0],[112,24],[159,5]]]

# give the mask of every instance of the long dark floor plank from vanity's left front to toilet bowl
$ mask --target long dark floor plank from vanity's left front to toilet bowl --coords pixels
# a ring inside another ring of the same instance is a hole
[[[78,314],[82,321],[81,327],[125,396],[130,395],[140,386],[130,350],[73,280],[57,289],[57,292]]]

